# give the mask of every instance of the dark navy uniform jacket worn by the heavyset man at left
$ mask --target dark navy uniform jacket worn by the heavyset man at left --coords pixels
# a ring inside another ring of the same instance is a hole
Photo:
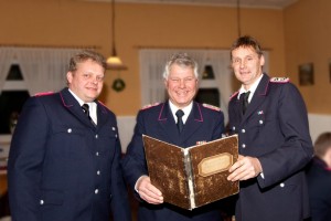
[[[97,102],[97,126],[64,88],[31,97],[12,138],[13,221],[130,220],[115,115]]]

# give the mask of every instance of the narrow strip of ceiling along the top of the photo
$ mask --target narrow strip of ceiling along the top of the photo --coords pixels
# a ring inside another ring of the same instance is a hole
[[[85,1],[104,1],[111,0],[85,0]],[[218,6],[218,7],[237,7],[239,2],[244,8],[274,8],[284,9],[299,0],[115,0],[116,2],[128,3],[169,3],[169,4],[193,4],[193,6]]]

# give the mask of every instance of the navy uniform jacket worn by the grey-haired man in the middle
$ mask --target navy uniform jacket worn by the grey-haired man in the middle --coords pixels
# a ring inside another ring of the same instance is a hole
[[[190,147],[197,141],[211,141],[222,137],[224,130],[224,116],[221,110],[204,107],[193,103],[193,108],[179,135],[175,120],[169,107],[169,103],[161,103],[138,113],[137,125],[128,152],[122,160],[126,180],[134,190],[136,181],[142,175],[148,175],[143,144],[141,135],[148,135],[157,139],[180,146]],[[162,157],[162,156],[160,156]],[[188,211],[168,203],[159,206],[140,202],[138,220],[141,221],[185,221],[221,220],[218,208],[212,206]]]

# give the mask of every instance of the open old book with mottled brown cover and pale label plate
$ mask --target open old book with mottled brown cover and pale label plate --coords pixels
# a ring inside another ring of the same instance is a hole
[[[151,183],[166,202],[192,210],[238,193],[238,181],[226,179],[238,159],[237,135],[189,148],[147,135],[142,139]]]

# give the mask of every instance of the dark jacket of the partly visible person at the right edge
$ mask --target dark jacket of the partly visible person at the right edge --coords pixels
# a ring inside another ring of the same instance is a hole
[[[331,220],[331,168],[314,158],[307,171],[309,201],[312,221]]]

